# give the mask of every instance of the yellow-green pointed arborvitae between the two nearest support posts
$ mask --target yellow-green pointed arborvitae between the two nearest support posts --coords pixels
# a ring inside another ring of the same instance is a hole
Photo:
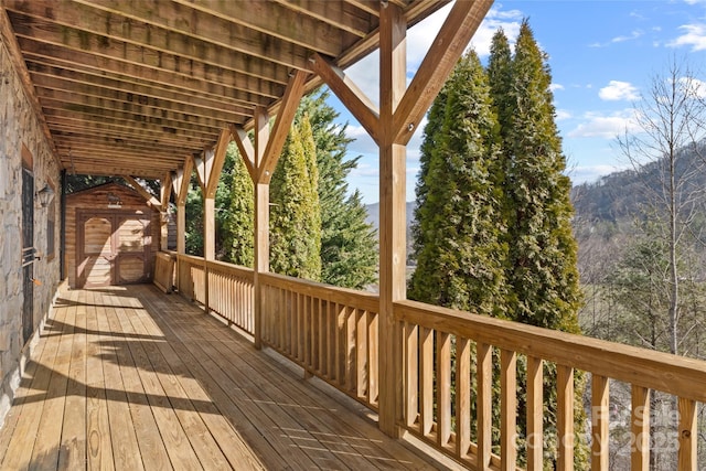
[[[291,127],[270,183],[270,269],[321,278],[321,213],[309,118]]]

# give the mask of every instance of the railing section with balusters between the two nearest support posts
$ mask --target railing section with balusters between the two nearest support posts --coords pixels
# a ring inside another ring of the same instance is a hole
[[[377,410],[377,296],[263,275],[263,342]]]

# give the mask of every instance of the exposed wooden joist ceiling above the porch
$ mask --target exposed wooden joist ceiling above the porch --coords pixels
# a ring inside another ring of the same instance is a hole
[[[409,25],[448,2],[389,1]],[[276,114],[290,74],[311,72],[314,53],[345,68],[377,49],[379,8],[377,0],[0,0],[0,32],[26,66],[63,168],[161,178],[214,146],[224,126],[247,128],[256,107]],[[307,88],[319,83],[311,74]]]

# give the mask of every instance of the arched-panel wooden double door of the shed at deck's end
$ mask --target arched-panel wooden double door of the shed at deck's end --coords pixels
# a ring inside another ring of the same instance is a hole
[[[149,218],[133,214],[83,215],[77,239],[79,287],[128,285],[149,279]]]

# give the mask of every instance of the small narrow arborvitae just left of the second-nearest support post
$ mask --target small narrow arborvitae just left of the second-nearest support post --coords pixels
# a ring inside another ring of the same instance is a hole
[[[232,168],[227,205],[224,211],[223,259],[231,264],[253,267],[255,257],[253,180],[234,142],[228,144],[226,162],[232,163]]]

